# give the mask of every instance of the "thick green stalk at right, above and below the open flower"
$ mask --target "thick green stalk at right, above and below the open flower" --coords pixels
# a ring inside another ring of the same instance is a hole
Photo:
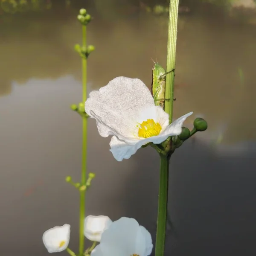
[[[169,21],[168,21],[168,43],[167,43],[167,64],[166,70],[174,70],[166,74],[166,90],[165,90],[165,112],[169,114],[169,124],[172,123],[173,101],[174,101],[174,78],[175,78],[175,55],[177,41],[177,20],[178,20],[179,0],[170,0],[169,6]],[[168,177],[169,177],[169,160],[172,154],[171,143],[168,151],[160,153],[160,183],[158,197],[158,212],[157,212],[157,236],[155,256],[164,255],[165,234],[166,234],[166,215],[168,203]]]

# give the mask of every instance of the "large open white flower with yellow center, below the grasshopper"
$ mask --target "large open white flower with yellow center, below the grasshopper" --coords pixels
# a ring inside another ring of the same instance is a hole
[[[116,77],[108,85],[92,91],[85,111],[96,119],[102,137],[113,135],[110,151],[117,161],[128,159],[149,142],[160,144],[179,135],[190,112],[169,125],[169,115],[154,99],[140,79]]]

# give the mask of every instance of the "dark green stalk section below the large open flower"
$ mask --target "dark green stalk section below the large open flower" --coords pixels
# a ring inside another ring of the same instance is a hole
[[[166,234],[166,214],[168,202],[168,176],[169,176],[169,157],[160,154],[160,182],[158,195],[158,213],[157,213],[157,237],[155,256],[164,255],[164,244]]]

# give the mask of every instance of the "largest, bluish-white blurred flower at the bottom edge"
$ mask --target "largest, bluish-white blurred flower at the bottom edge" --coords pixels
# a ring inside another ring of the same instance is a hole
[[[134,218],[122,217],[102,233],[91,256],[148,256],[153,248],[151,235]]]

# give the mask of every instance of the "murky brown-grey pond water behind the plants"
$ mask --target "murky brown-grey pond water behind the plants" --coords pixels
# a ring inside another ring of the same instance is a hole
[[[89,92],[116,76],[150,86],[151,58],[166,61],[166,34],[156,18],[138,14],[114,23],[94,17],[87,39],[96,46],[88,63]],[[72,226],[70,247],[77,247],[78,193],[64,177],[80,175],[81,119],[69,105],[81,101],[81,62],[73,51],[81,27],[73,14],[27,24],[9,25],[0,38],[0,224],[6,256],[47,255],[44,230],[64,223]],[[169,208],[179,236],[169,234],[166,253],[230,255],[246,248],[243,255],[252,255],[246,250],[253,250],[250,238],[256,234],[256,147],[250,142],[256,128],[255,27],[198,13],[180,16],[179,26],[175,116],[194,111],[186,125],[204,116],[209,129],[173,156]],[[87,193],[87,214],[135,217],[154,233],[157,154],[144,148],[118,163],[108,143],[90,120],[88,171],[96,179]],[[23,230],[26,236],[20,236]]]

